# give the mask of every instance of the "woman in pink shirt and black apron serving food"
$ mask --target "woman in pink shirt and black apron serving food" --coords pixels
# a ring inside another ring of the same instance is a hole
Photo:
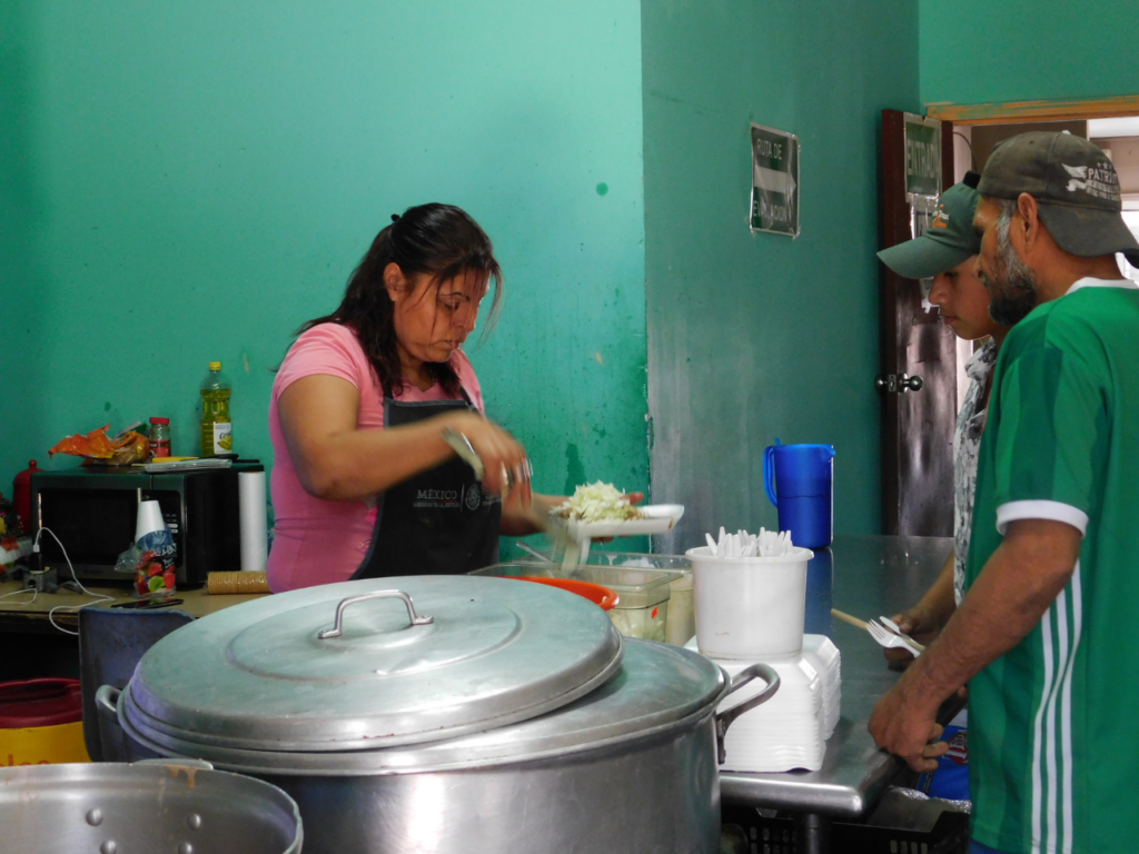
[[[490,238],[450,205],[392,220],[339,307],[301,328],[273,383],[274,592],[470,572],[498,560],[500,531],[531,533],[531,515],[554,503],[532,494],[523,446],[484,417],[461,350],[491,280],[492,317],[498,307]],[[482,483],[446,428],[482,458]]]

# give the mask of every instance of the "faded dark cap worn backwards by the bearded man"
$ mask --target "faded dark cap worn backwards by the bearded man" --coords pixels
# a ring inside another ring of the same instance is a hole
[[[1120,176],[1095,142],[1057,131],[1011,137],[993,148],[977,189],[994,198],[1031,195],[1048,233],[1070,255],[1122,252],[1139,266],[1139,241],[1120,215]]]

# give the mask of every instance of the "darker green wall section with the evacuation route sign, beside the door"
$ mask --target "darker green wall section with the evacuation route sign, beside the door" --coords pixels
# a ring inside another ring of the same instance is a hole
[[[646,2],[645,235],[653,498],[705,531],[761,525],[763,449],[826,442],[835,529],[879,531],[877,162],[915,109],[917,8]],[[798,134],[802,235],[751,235],[748,123]]]

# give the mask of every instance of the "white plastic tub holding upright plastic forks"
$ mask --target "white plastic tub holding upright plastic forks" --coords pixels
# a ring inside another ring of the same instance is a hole
[[[760,660],[803,649],[810,549],[775,558],[714,557],[706,545],[693,561],[696,643],[710,658]]]

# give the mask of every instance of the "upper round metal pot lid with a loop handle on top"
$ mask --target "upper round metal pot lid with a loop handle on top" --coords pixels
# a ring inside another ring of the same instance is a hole
[[[158,732],[249,750],[420,744],[536,717],[593,690],[621,635],[544,584],[401,576],[279,593],[151,647],[131,703]]]

